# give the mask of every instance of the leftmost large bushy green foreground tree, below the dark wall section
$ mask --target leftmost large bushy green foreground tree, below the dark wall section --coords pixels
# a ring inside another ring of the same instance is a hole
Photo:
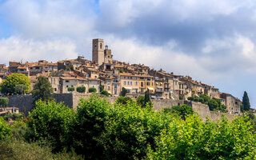
[[[66,144],[67,129],[74,110],[56,102],[36,102],[36,107],[30,113],[28,127],[35,140],[46,139],[51,142],[54,151],[59,151]]]

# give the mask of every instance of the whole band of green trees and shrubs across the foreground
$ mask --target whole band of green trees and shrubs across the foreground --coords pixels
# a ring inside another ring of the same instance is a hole
[[[210,122],[190,106],[154,112],[150,104],[110,104],[92,96],[74,111],[38,101],[12,126],[0,120],[0,159],[255,159],[248,117]]]

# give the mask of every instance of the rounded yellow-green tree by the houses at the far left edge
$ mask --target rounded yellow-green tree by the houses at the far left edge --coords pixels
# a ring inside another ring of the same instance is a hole
[[[15,94],[17,85],[27,86],[26,92],[30,91],[30,80],[25,74],[10,74],[0,84],[2,94]]]

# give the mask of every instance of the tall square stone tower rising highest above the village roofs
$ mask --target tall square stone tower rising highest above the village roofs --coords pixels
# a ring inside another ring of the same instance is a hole
[[[104,40],[93,39],[93,62],[101,66],[104,62]]]

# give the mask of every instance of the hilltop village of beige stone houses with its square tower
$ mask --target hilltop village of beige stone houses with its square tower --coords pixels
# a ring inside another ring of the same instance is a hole
[[[144,64],[114,60],[111,50],[99,38],[92,41],[92,61],[78,56],[59,62],[9,62],[8,67],[0,65],[0,82],[11,73],[26,74],[30,78],[30,90],[33,90],[38,76],[44,76],[48,78],[55,94],[70,93],[69,87],[78,86],[85,86],[86,93],[93,87],[98,93],[106,90],[114,97],[121,95],[122,88],[132,98],[138,98],[146,90],[152,99],[187,100],[189,97],[206,94],[210,98],[219,99],[230,114],[239,114],[242,104],[233,95],[222,93],[218,88],[195,81],[190,76],[154,70]]]

